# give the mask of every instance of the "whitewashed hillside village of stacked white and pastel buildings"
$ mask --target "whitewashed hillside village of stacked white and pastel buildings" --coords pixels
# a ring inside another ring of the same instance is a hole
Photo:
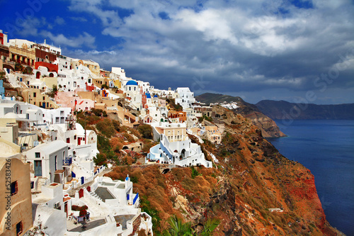
[[[103,174],[217,162],[190,137],[219,145],[223,125],[208,120],[220,116],[188,88],[156,89],[2,31],[0,57],[0,235],[153,235],[130,176]]]

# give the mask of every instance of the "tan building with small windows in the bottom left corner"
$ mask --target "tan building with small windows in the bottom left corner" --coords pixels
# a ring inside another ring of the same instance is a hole
[[[0,138],[0,235],[24,235],[33,226],[30,165],[20,147]]]

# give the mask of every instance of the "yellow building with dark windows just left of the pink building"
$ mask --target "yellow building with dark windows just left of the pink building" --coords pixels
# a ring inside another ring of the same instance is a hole
[[[57,106],[54,101],[50,100],[50,97],[40,89],[25,89],[22,92],[22,96],[24,102],[40,106],[41,108],[59,108],[59,106]]]

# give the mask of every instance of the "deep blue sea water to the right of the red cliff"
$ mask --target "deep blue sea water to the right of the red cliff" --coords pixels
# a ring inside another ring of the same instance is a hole
[[[354,235],[354,120],[275,120],[288,137],[268,139],[314,174],[329,223]]]

